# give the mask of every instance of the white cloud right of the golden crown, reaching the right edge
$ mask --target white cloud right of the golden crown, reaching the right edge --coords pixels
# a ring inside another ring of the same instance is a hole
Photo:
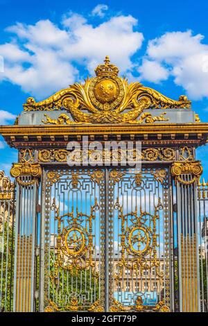
[[[190,98],[196,100],[208,97],[208,45],[202,43],[203,38],[200,34],[193,35],[187,31],[165,33],[162,37],[150,40],[140,68],[141,77],[159,83],[168,75],[173,76],[175,84],[182,86]],[[150,69],[146,73],[147,60],[154,62],[155,67],[160,67],[156,69],[155,80]]]

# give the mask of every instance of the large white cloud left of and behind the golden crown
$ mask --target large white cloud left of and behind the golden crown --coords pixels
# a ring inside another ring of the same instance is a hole
[[[47,19],[6,28],[15,36],[12,42],[0,45],[4,58],[0,80],[19,85],[40,99],[82,78],[77,64],[94,74],[105,55],[110,55],[121,74],[130,74],[134,67],[131,56],[144,40],[142,33],[134,31],[137,19],[118,15],[92,26],[82,15],[69,12],[61,23],[62,28]]]

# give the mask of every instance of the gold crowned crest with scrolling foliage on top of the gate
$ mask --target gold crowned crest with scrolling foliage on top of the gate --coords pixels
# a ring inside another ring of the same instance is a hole
[[[110,63],[108,57],[104,64],[95,69],[96,77],[87,78],[85,84],[75,83],[62,89],[45,101],[36,103],[28,98],[24,110],[67,110],[58,119],[46,115],[44,123],[154,123],[168,121],[164,112],[153,117],[146,109],[190,108],[187,96],[180,96],[179,101],[160,94],[154,89],[144,87],[141,83],[130,83],[118,76],[119,69]],[[71,118],[73,120],[71,120]],[[139,118],[139,119],[138,119]]]

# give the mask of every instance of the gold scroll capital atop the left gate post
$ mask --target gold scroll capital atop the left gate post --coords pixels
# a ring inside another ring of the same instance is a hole
[[[13,163],[10,175],[16,178],[17,183],[21,186],[31,186],[35,183],[38,185],[38,179],[41,177],[42,169],[39,163]],[[22,181],[21,177],[30,176],[32,180]]]

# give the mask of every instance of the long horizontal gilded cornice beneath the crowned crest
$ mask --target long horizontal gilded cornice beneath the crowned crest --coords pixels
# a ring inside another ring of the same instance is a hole
[[[132,124],[95,124],[73,126],[0,126],[0,133],[7,136],[36,136],[36,135],[113,135],[113,134],[205,134],[208,136],[208,123],[157,123],[140,125]]]

